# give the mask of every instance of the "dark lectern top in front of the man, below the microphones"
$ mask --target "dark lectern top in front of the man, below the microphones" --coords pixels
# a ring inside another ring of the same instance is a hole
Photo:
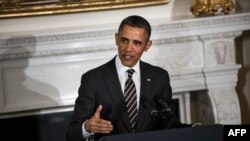
[[[223,141],[223,125],[201,125],[102,137],[99,141]]]

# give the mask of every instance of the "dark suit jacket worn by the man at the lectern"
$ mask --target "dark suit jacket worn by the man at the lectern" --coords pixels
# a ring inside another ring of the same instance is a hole
[[[171,101],[172,89],[167,71],[142,61],[140,61],[140,71],[141,96],[153,100],[155,95],[160,94]],[[115,59],[82,75],[79,96],[76,99],[73,117],[67,129],[69,141],[82,140],[82,124],[94,114],[100,104],[103,105],[101,118],[109,120],[113,124],[113,131],[110,135],[132,131],[115,67]],[[161,128],[150,112],[139,104],[136,132],[160,130]],[[102,136],[104,134],[96,134],[95,140]]]

